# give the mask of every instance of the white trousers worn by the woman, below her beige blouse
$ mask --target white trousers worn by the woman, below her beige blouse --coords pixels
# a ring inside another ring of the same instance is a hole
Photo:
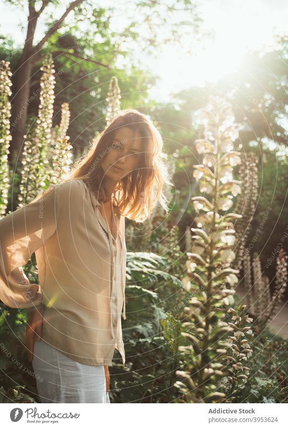
[[[82,364],[35,340],[32,366],[41,403],[110,403],[103,365]]]

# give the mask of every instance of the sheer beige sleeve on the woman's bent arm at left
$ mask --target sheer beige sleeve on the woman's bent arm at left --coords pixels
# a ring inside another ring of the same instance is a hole
[[[31,312],[42,304],[39,285],[30,283],[22,266],[56,231],[56,186],[0,219],[0,299],[10,308]]]

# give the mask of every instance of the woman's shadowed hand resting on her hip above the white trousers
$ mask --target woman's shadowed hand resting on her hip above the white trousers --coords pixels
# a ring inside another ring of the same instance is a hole
[[[32,361],[34,356],[34,340],[41,340],[42,337],[42,325],[43,325],[43,314],[45,306],[41,306],[38,310],[29,312],[28,321],[26,325],[25,345],[28,353],[28,360]]]

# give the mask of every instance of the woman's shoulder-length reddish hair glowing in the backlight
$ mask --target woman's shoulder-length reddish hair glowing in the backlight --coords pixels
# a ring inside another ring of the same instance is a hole
[[[112,146],[116,131],[121,127],[132,129],[133,136],[138,132],[146,144],[145,150],[140,153],[139,166],[118,181],[112,201],[118,206],[121,215],[143,222],[150,217],[158,201],[168,212],[164,186],[172,186],[164,161],[166,155],[162,152],[162,137],[147,115],[132,108],[122,110],[91,142],[87,154],[74,163],[64,181],[74,178],[86,180],[87,185],[96,193],[98,201],[108,202],[109,192],[103,181],[101,162]]]

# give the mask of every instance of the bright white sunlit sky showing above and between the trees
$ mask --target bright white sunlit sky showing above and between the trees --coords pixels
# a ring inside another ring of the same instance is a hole
[[[115,1],[100,0],[97,4],[114,6]],[[65,0],[61,5],[69,3]],[[118,0],[117,5],[113,29],[118,25],[121,28],[126,17],[126,0],[121,4]],[[147,57],[141,52],[143,67],[160,78],[150,91],[159,102],[168,101],[170,92],[217,80],[236,69],[247,50],[268,46],[273,41],[273,33],[286,31],[288,2],[284,0],[200,0],[198,5],[198,12],[204,19],[203,28],[211,31],[213,38],[197,43],[193,55],[183,54],[179,47],[171,46],[166,46],[158,58]],[[10,34],[21,44],[25,35],[25,28],[21,29],[25,13],[1,0],[0,13],[5,17],[0,32]],[[59,15],[61,13],[59,10]],[[43,30],[40,23],[36,40],[41,38]]]

